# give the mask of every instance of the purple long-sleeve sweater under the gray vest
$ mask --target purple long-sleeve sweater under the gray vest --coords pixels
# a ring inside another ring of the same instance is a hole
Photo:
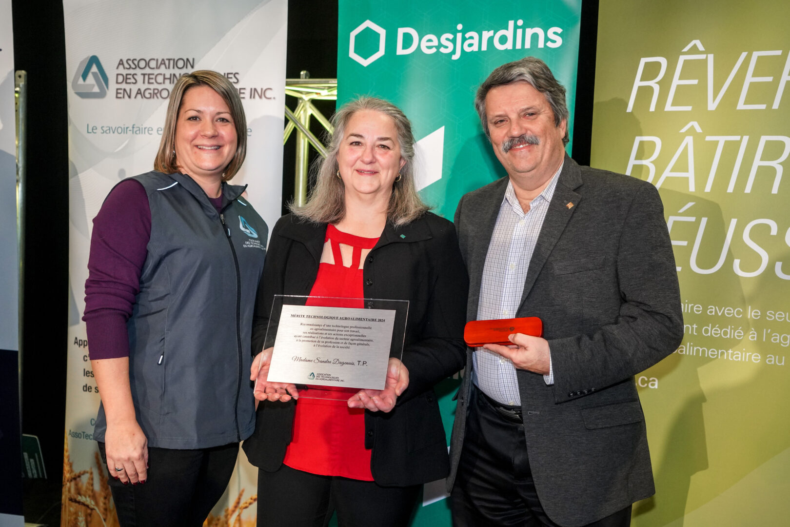
[[[222,197],[209,198],[217,211]],[[129,356],[126,321],[140,292],[151,238],[151,209],[141,183],[126,179],[111,190],[93,219],[85,315],[91,359]]]

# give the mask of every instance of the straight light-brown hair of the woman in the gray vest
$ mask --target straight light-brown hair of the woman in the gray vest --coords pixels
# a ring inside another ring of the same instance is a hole
[[[170,92],[170,101],[167,103],[167,113],[164,116],[164,130],[162,140],[159,143],[159,152],[153,160],[153,168],[164,174],[173,174],[179,171],[179,162],[175,159],[175,125],[179,121],[179,110],[184,100],[184,94],[194,86],[208,86],[217,95],[222,97],[228,109],[231,111],[231,118],[236,129],[236,151],[231,162],[225,167],[222,175],[223,181],[229,181],[236,175],[239,168],[242,168],[246,157],[246,117],[242,100],[239,92],[236,91],[228,77],[212,70],[197,70],[186,73],[175,81],[175,85]]]

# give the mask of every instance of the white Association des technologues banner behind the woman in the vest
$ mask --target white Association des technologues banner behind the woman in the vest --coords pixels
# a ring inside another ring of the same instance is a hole
[[[152,170],[175,81],[224,73],[247,120],[233,179],[271,228],[280,217],[287,0],[65,0],[70,298],[62,527],[117,525],[92,440],[99,390],[88,357],[85,279],[92,218],[121,179]],[[257,469],[241,456],[210,525],[255,525]]]

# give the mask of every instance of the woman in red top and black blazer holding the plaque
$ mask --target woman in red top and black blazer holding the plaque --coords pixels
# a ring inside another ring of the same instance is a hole
[[[416,192],[414,137],[399,108],[363,97],[333,122],[307,205],[273,229],[258,292],[253,349],[266,349],[250,373],[261,404],[244,442],[260,469],[258,525],[325,525],[335,511],[340,525],[407,525],[422,484],[450,467],[433,387],[465,360],[468,280],[455,229]],[[295,401],[294,385],[267,382],[274,295],[334,297],[336,307],[408,300],[386,388]]]

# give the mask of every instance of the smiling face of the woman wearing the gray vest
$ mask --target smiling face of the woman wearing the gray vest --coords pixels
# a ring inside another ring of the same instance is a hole
[[[175,159],[194,178],[221,178],[236,152],[236,129],[224,99],[209,86],[184,93],[175,123]]]

